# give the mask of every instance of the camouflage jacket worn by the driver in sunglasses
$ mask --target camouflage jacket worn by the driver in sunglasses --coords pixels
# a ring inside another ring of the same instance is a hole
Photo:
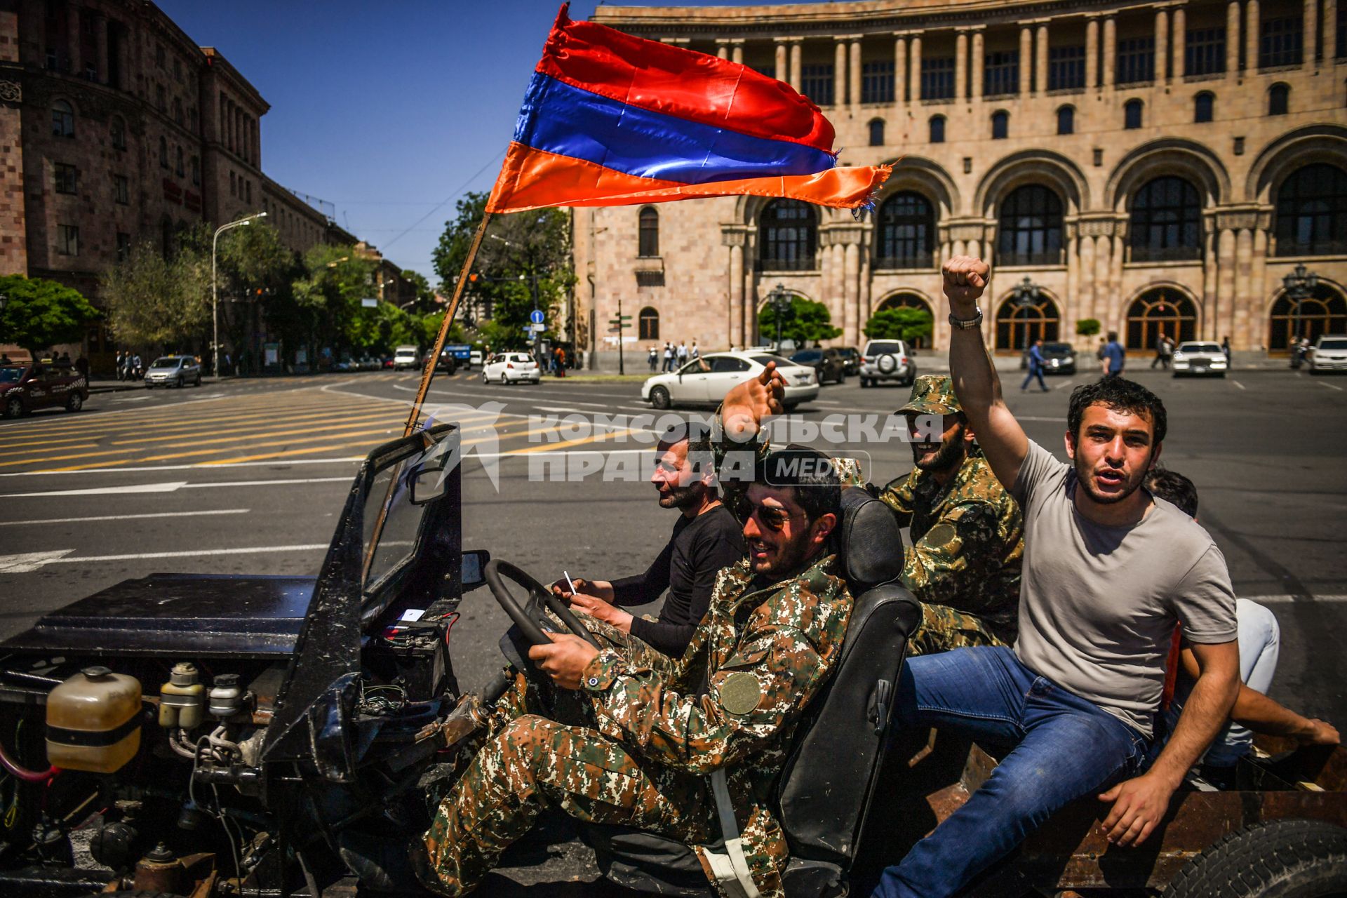
[[[581,685],[598,730],[634,755],[696,775],[726,770],[764,895],[783,894],[789,851],[770,810],[772,784],[800,714],[841,656],[851,617],[851,595],[835,567],[835,556],[826,555],[765,588],[754,588],[748,560],[727,567],[682,658],[606,649]]]

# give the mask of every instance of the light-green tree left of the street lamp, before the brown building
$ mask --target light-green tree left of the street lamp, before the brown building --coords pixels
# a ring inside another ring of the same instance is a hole
[[[210,323],[210,257],[185,244],[164,258],[140,244],[102,275],[101,292],[119,342],[179,351]]]

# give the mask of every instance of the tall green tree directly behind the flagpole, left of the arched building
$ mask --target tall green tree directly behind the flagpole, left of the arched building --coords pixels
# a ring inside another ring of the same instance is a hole
[[[458,201],[457,218],[445,222],[434,252],[445,292],[454,287],[485,207],[486,194],[467,194]],[[494,215],[473,273],[478,277],[467,289],[490,304],[493,319],[506,330],[519,334],[533,308],[540,308],[551,326],[556,308],[575,285],[570,214],[539,209]]]

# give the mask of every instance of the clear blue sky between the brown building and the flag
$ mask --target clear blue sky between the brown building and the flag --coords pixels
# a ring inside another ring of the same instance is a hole
[[[158,1],[271,104],[263,170],[333,202],[337,223],[431,283],[431,252],[454,199],[494,182],[560,8],[560,0]],[[577,1],[570,15],[589,18],[594,5]]]

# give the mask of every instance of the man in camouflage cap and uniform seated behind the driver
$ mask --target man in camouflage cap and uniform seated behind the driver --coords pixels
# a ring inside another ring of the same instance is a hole
[[[921,602],[923,621],[908,653],[1012,645],[1024,555],[1020,506],[974,443],[948,376],[919,377],[898,413],[908,419],[915,467],[878,495],[911,526],[902,586]],[[939,439],[919,432],[917,415],[939,416]]]

